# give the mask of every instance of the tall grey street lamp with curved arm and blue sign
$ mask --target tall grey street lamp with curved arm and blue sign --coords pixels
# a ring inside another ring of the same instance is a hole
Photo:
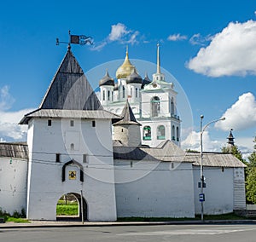
[[[209,122],[208,124],[206,124],[203,128],[202,128],[202,120],[204,118],[203,115],[200,116],[201,120],[200,120],[200,147],[201,147],[201,156],[200,156],[200,179],[201,179],[201,191],[199,194],[199,200],[201,202],[201,221],[204,220],[204,201],[205,201],[205,194],[204,194],[204,175],[203,175],[203,148],[202,148],[202,135],[203,132],[207,129],[207,127],[212,124],[212,123],[216,123],[218,121],[222,121],[225,120],[225,118],[219,118],[216,120],[212,120],[211,122]]]

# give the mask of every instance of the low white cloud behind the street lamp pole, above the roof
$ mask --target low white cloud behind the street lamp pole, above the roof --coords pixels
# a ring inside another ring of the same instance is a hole
[[[220,152],[221,147],[223,147],[224,143],[223,141],[212,141],[207,130],[204,131],[202,140],[204,152]],[[192,131],[191,133],[189,133],[187,138],[182,141],[181,145],[184,150],[191,149],[195,151],[200,151],[200,132]]]

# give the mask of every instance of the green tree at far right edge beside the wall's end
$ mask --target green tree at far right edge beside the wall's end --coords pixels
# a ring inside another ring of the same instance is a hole
[[[254,151],[248,157],[249,163],[247,164],[247,201],[256,204],[256,136],[253,142]]]

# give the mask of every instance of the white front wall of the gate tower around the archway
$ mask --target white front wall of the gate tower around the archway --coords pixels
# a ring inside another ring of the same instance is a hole
[[[84,194],[90,221],[116,220],[113,180],[113,147],[111,121],[34,118],[32,165],[29,176],[27,217],[32,220],[55,220],[58,199],[66,193]],[[28,137],[30,139],[30,137]],[[71,150],[71,144],[74,144]],[[61,153],[61,162],[55,154]],[[86,154],[86,160],[83,155]],[[68,165],[66,180],[62,182],[62,166],[76,160],[84,168],[84,182],[79,180],[77,165]],[[68,171],[77,172],[76,180],[69,180]],[[108,209],[106,209],[108,208]]]

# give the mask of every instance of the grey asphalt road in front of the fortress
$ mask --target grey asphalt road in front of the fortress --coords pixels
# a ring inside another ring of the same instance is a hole
[[[0,241],[84,242],[84,241],[172,241],[255,242],[254,225],[161,225],[81,228],[0,229]]]

